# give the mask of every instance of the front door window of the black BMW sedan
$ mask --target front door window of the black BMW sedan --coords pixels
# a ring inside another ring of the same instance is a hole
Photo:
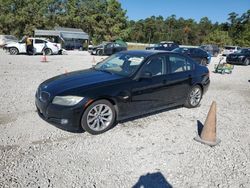
[[[154,57],[144,66],[142,72],[150,72],[152,76],[163,75],[164,73],[164,57]]]

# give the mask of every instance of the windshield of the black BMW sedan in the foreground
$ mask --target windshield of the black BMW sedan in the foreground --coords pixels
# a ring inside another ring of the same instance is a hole
[[[118,53],[98,63],[94,69],[121,76],[130,76],[137,71],[144,59],[145,57],[141,55]]]

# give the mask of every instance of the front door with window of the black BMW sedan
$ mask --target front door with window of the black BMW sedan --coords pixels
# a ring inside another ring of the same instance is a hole
[[[142,77],[131,84],[130,110],[133,115],[141,115],[165,106],[166,64],[164,56],[155,56],[140,70]],[[144,77],[143,75],[151,77]]]

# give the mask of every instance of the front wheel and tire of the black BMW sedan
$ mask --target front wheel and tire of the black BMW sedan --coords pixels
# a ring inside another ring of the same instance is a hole
[[[91,104],[83,113],[81,126],[88,133],[97,135],[112,128],[115,120],[116,112],[114,106],[107,100],[98,100]]]

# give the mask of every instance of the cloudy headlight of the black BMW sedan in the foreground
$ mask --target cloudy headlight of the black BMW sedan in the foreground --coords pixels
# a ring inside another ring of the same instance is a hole
[[[55,96],[52,104],[58,104],[62,106],[74,106],[79,103],[84,97],[78,96]]]

